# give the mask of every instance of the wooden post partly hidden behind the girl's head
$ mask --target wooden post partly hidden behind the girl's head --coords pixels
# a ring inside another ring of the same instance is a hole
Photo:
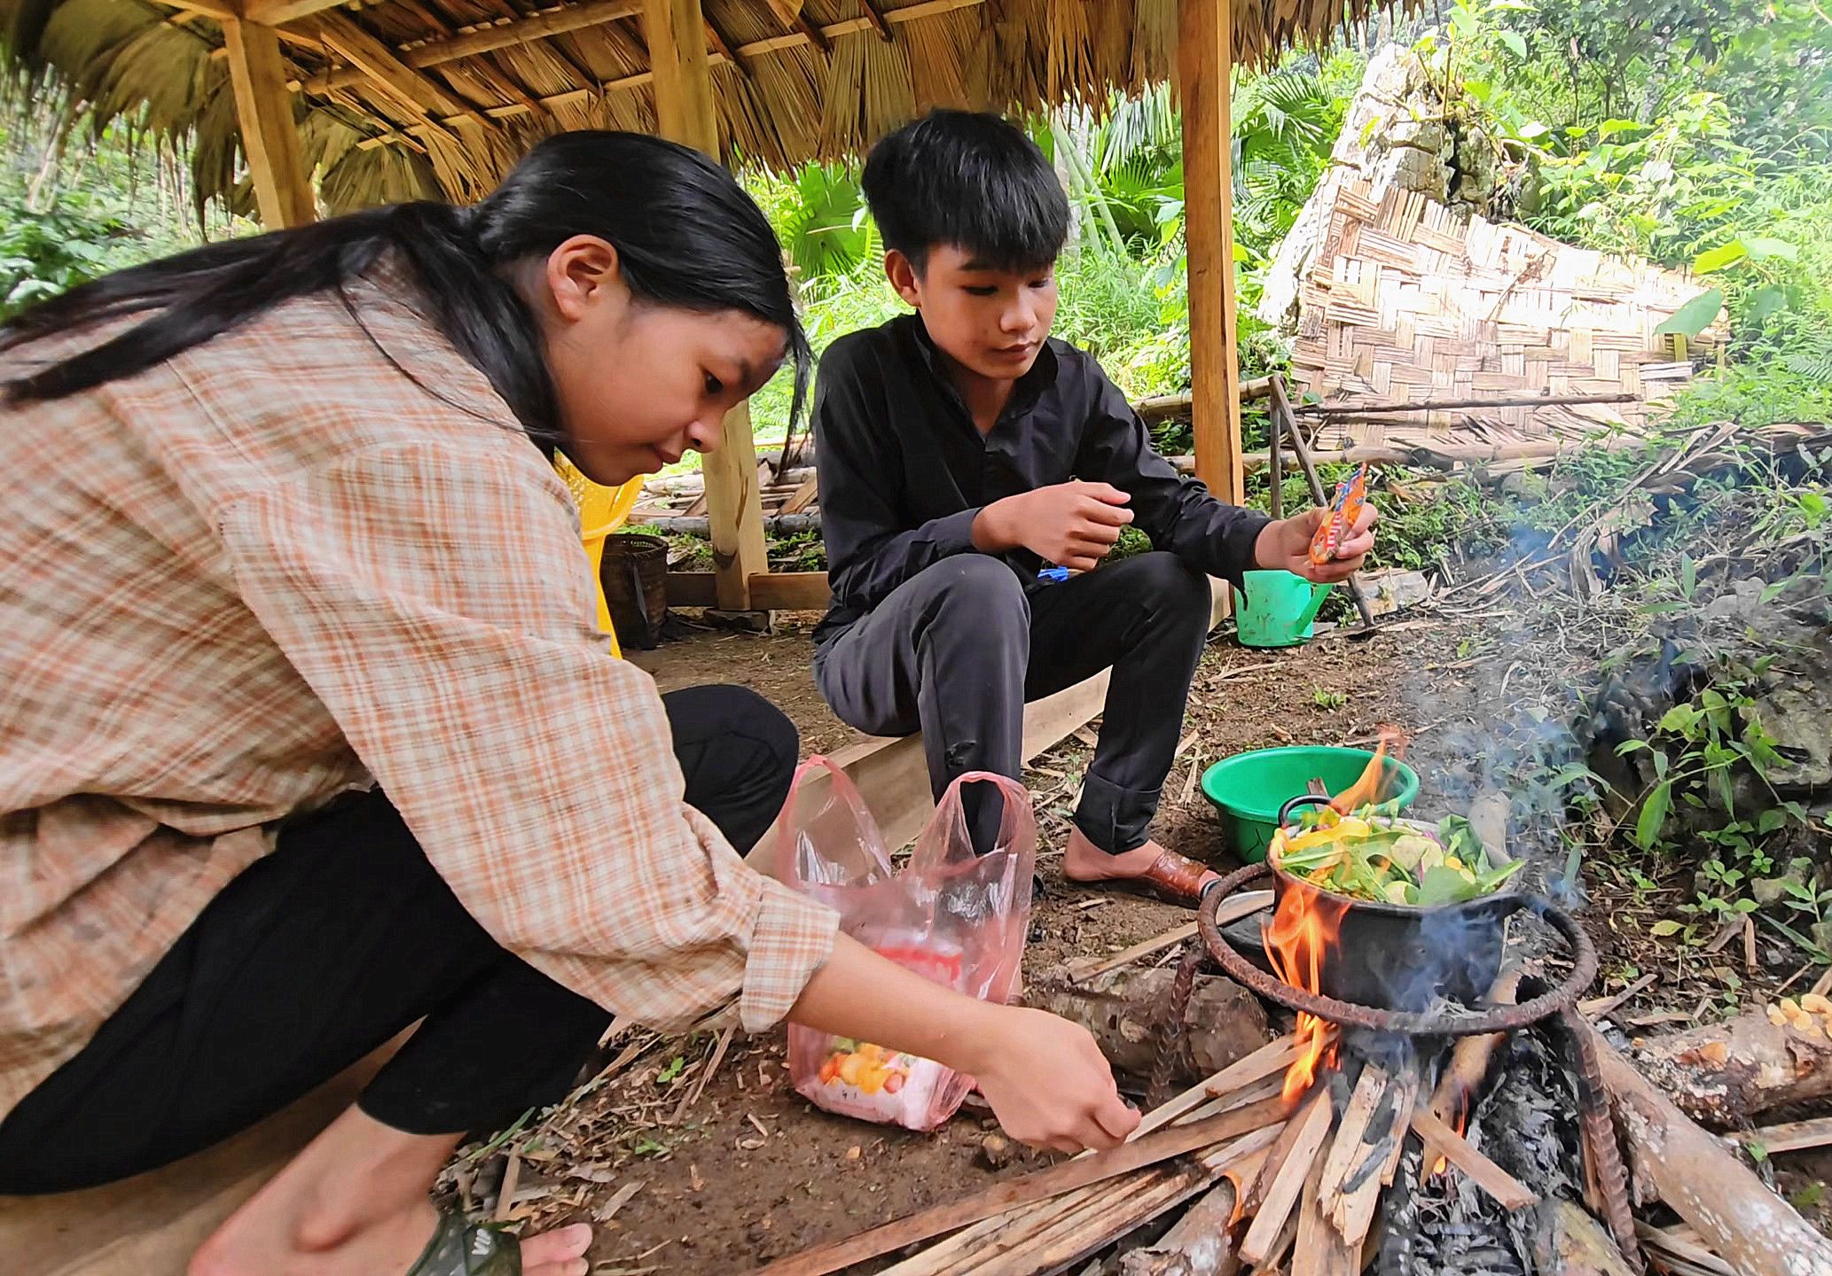
[[[661,135],[716,159],[718,114],[700,0],[645,0],[643,27]],[[725,438],[700,469],[705,470],[718,606],[746,611],[751,608],[751,577],[769,571],[749,406],[740,403],[725,414]]]

